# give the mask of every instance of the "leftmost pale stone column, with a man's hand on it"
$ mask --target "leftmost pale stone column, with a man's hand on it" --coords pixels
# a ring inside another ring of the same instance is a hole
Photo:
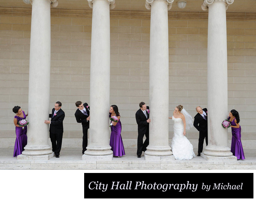
[[[30,0],[32,4],[32,0]],[[48,144],[51,68],[50,7],[57,0],[33,0],[31,15],[29,84],[28,84],[28,144],[18,159],[49,159],[53,156]]]

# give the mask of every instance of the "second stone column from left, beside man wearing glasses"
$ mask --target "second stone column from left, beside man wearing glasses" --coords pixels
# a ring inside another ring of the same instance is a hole
[[[115,0],[87,0],[92,8],[90,140],[82,159],[112,160],[109,146],[110,18]]]

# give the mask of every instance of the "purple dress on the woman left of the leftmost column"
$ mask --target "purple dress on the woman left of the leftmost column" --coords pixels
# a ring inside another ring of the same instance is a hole
[[[23,112],[24,118],[15,116],[14,118],[16,118],[18,120],[18,124],[19,121],[21,119],[26,119],[26,115]],[[27,145],[27,126],[24,126],[24,129],[22,129],[22,127],[15,127],[16,128],[16,140],[15,140],[15,145],[14,145],[14,152],[13,152],[13,157],[16,157],[17,155],[20,155],[22,153],[22,151],[24,151],[24,147]]]

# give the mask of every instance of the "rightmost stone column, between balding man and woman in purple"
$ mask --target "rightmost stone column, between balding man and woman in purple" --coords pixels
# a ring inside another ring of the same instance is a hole
[[[216,159],[233,154],[228,147],[228,129],[221,123],[228,118],[228,62],[226,9],[234,0],[204,0],[203,10],[208,10],[208,146],[202,157]],[[229,157],[232,158],[232,157]]]

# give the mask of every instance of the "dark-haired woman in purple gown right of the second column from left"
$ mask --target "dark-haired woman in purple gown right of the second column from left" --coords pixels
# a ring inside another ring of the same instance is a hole
[[[113,151],[113,155],[120,158],[125,155],[123,140],[121,137],[122,125],[120,121],[120,114],[118,112],[118,107],[116,105],[111,105],[109,110],[109,117],[116,116],[118,118],[117,122],[112,121],[111,135],[109,145]]]

